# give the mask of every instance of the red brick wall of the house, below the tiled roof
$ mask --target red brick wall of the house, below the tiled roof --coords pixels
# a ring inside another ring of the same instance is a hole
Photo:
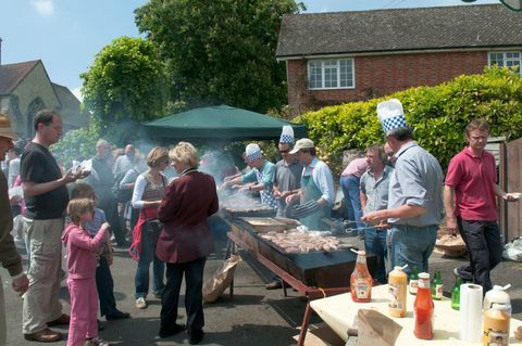
[[[480,74],[487,65],[487,51],[356,56],[355,89],[308,90],[307,62],[287,61],[288,104],[294,115],[411,87],[436,86],[462,74]]]

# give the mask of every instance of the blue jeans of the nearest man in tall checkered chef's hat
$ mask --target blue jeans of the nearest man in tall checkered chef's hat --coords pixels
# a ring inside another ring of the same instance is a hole
[[[405,266],[405,272],[410,274],[413,267],[419,272],[428,272],[427,259],[433,253],[437,240],[437,225],[414,227],[396,225],[389,230],[389,259],[391,269]]]

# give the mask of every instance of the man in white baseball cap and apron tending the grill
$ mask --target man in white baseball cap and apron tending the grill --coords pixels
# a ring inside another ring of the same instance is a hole
[[[290,151],[304,167],[301,175],[301,189],[286,198],[294,207],[294,216],[311,230],[328,230],[322,221],[330,219],[335,198],[334,178],[328,166],[315,157],[315,145],[308,138],[300,139]]]

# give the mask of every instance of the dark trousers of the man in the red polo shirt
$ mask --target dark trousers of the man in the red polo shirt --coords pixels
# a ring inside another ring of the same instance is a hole
[[[489,272],[502,260],[504,246],[497,222],[457,219],[459,232],[470,253],[470,265],[458,269],[459,275],[482,285],[484,293],[493,289]]]

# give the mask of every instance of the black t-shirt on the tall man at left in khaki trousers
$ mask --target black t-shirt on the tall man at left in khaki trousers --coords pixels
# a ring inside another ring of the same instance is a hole
[[[20,163],[22,181],[35,183],[49,182],[62,177],[57,161],[49,150],[30,142]],[[26,197],[27,217],[37,220],[58,219],[63,217],[69,203],[69,191],[65,185],[37,196]]]

